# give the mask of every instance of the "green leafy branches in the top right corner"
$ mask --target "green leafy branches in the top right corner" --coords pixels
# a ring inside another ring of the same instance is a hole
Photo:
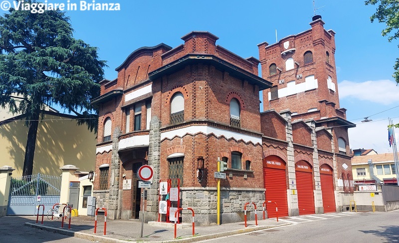
[[[370,17],[374,22],[377,19],[380,23],[386,23],[387,27],[382,30],[383,36],[388,36],[391,42],[399,38],[399,0],[366,0],[366,5],[378,5],[376,12]],[[398,45],[399,47],[399,45]],[[394,65],[394,79],[399,83],[399,58]]]

